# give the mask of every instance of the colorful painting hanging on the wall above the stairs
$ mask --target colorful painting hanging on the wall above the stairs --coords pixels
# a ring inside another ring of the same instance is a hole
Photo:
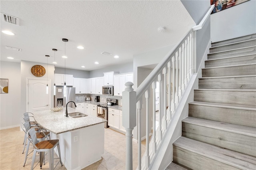
[[[210,4],[215,5],[211,14],[220,12],[222,10],[225,10],[227,8],[241,4],[246,1],[249,1],[249,0],[210,0]]]

